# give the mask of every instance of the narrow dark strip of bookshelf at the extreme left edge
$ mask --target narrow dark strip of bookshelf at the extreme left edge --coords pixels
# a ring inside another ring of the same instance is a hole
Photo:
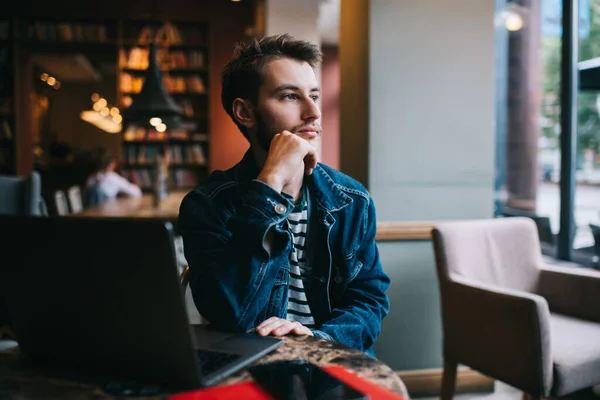
[[[0,175],[15,174],[14,22],[0,18]]]

